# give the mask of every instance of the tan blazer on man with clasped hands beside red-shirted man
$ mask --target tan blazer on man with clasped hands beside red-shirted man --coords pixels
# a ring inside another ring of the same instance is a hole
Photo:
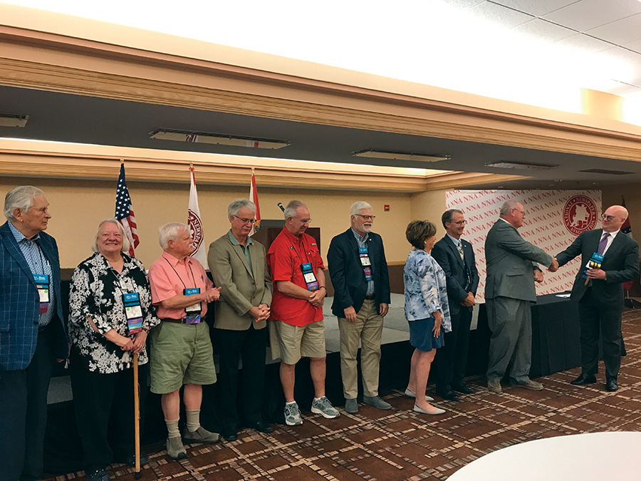
[[[271,304],[271,277],[266,264],[265,247],[260,242],[248,244],[251,267],[240,246],[231,244],[226,234],[209,245],[207,263],[214,285],[220,287],[220,299],[214,304],[214,327],[228,331],[245,331],[251,324],[263,329],[267,321],[254,322],[249,309]]]

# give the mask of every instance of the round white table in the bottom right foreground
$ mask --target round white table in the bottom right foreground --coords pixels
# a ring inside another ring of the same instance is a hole
[[[641,433],[586,433],[491,452],[448,481],[640,481]]]

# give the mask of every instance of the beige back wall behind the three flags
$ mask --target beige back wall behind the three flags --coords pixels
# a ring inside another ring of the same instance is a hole
[[[187,173],[185,174],[187,177]],[[260,180],[259,180],[260,182]],[[90,246],[95,228],[101,219],[113,217],[116,179],[110,182],[98,180],[53,180],[20,177],[0,177],[0,192],[7,192],[16,185],[36,185],[45,191],[53,215],[48,234],[56,237],[60,250],[61,267],[73,268],[91,254]],[[136,214],[140,246],[137,257],[145,266],[160,256],[157,229],[165,222],[184,222],[187,217],[189,184],[128,181],[130,195]],[[444,191],[410,195],[407,193],[375,192],[371,195],[352,194],[335,190],[277,189],[258,185],[263,219],[281,219],[276,205],[284,205],[298,199],[308,205],[312,225],[321,228],[321,251],[323,259],[332,237],[349,227],[350,205],[357,200],[366,200],[374,208],[375,232],[385,241],[389,262],[404,262],[409,244],[405,240],[405,227],[414,218],[437,219],[444,206]],[[246,187],[198,185],[199,205],[204,224],[205,242],[209,243],[229,229],[226,208],[231,200],[247,197]],[[440,202],[439,197],[442,197]],[[390,205],[390,212],[383,206]],[[437,207],[437,205],[439,207]],[[417,212],[416,216],[414,212]]]

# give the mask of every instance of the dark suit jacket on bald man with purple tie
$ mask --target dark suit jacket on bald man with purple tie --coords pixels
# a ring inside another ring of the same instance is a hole
[[[570,247],[556,256],[559,266],[567,264],[578,255],[581,256],[581,267],[572,286],[571,297],[576,301],[579,301],[588,289],[582,277],[583,271],[592,254],[597,251],[602,234],[603,229],[581,232]],[[611,304],[613,309],[623,309],[623,283],[639,277],[639,245],[635,239],[619,232],[605,251],[601,269],[605,271],[605,280],[592,280],[593,294],[600,301]]]

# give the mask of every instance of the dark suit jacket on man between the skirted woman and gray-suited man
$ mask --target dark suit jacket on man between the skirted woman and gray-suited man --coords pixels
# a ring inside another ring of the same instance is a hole
[[[449,314],[459,314],[461,309],[471,311],[471,306],[464,307],[461,303],[467,298],[467,293],[476,295],[476,288],[479,286],[479,271],[476,270],[476,259],[474,249],[465,239],[460,239],[463,246],[463,257],[461,259],[459,249],[454,245],[452,239],[445,235],[439,242],[434,244],[432,257],[445,271],[447,281],[447,299],[449,301]]]

